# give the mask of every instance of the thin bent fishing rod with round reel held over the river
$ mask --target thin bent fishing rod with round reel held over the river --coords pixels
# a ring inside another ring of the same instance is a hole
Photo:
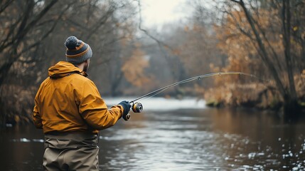
[[[191,81],[200,80],[202,78],[208,78],[208,77],[213,77],[213,76],[223,76],[223,75],[243,75],[243,76],[250,76],[250,77],[253,77],[253,78],[257,78],[261,81],[266,81],[266,80],[264,80],[262,78],[259,78],[259,77],[255,76],[253,74],[250,74],[250,73],[242,73],[242,72],[234,72],[234,71],[207,73],[207,74],[204,74],[204,75],[194,76],[192,78],[187,78],[186,80],[178,81],[176,83],[172,83],[172,84],[170,84],[168,86],[165,86],[163,88],[159,88],[157,90],[151,91],[150,93],[147,93],[145,95],[141,95],[139,98],[131,100],[129,103],[132,104],[132,111],[134,111],[134,113],[141,113],[141,111],[143,110],[143,105],[141,103],[137,102],[137,100],[140,100],[140,99],[146,98],[146,97],[147,97],[146,99],[151,98],[154,95],[157,95],[157,94],[161,93],[162,91],[166,90],[167,88],[171,88],[173,86],[178,86],[179,84],[182,84],[182,83],[188,83],[188,82],[191,82]],[[130,118],[130,115],[128,114],[127,117],[126,117],[126,120],[129,120],[129,118]]]

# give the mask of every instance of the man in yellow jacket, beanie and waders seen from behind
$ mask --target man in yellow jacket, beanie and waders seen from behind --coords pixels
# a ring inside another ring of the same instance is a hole
[[[48,69],[35,97],[33,122],[45,134],[44,170],[99,170],[99,130],[128,118],[131,105],[122,101],[107,108],[87,77],[92,50],[70,36],[66,61]]]

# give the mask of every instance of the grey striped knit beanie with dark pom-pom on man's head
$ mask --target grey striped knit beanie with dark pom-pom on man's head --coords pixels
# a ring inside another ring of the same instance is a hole
[[[65,41],[65,47],[67,51],[65,56],[68,62],[73,64],[80,64],[92,57],[92,50],[90,46],[77,39],[75,36],[70,36]]]

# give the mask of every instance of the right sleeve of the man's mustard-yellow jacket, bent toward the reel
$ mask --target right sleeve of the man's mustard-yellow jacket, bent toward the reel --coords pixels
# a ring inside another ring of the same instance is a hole
[[[97,130],[109,128],[122,117],[123,107],[114,105],[111,109],[108,109],[92,81],[85,81],[80,91],[82,93],[79,94],[80,97],[78,98],[80,103],[79,113],[92,128]]]

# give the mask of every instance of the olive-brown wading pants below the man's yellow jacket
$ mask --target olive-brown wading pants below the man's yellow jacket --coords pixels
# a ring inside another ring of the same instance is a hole
[[[43,170],[99,170],[98,135],[46,133]]]

